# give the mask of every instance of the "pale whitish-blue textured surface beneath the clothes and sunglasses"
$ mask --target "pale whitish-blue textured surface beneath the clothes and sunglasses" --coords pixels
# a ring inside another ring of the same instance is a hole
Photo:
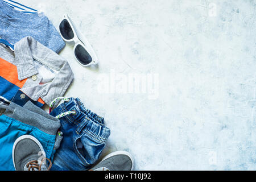
[[[18,0],[17,0],[18,1]],[[126,150],[140,170],[256,169],[256,1],[28,1],[57,27],[68,13],[98,67],[60,53],[75,80],[66,96],[103,115],[104,154]],[[159,97],[99,93],[98,76],[159,74]]]

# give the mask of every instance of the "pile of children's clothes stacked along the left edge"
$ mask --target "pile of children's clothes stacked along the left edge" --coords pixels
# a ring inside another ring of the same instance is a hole
[[[104,118],[79,98],[68,98],[50,114],[40,108],[63,96],[73,80],[68,61],[57,54],[64,46],[43,13],[0,0],[0,170],[39,169],[15,166],[30,155],[37,159],[35,151],[26,154],[32,146],[22,148],[29,147],[26,141],[40,143],[38,160],[47,158],[51,170],[86,170],[100,158],[110,135]]]

